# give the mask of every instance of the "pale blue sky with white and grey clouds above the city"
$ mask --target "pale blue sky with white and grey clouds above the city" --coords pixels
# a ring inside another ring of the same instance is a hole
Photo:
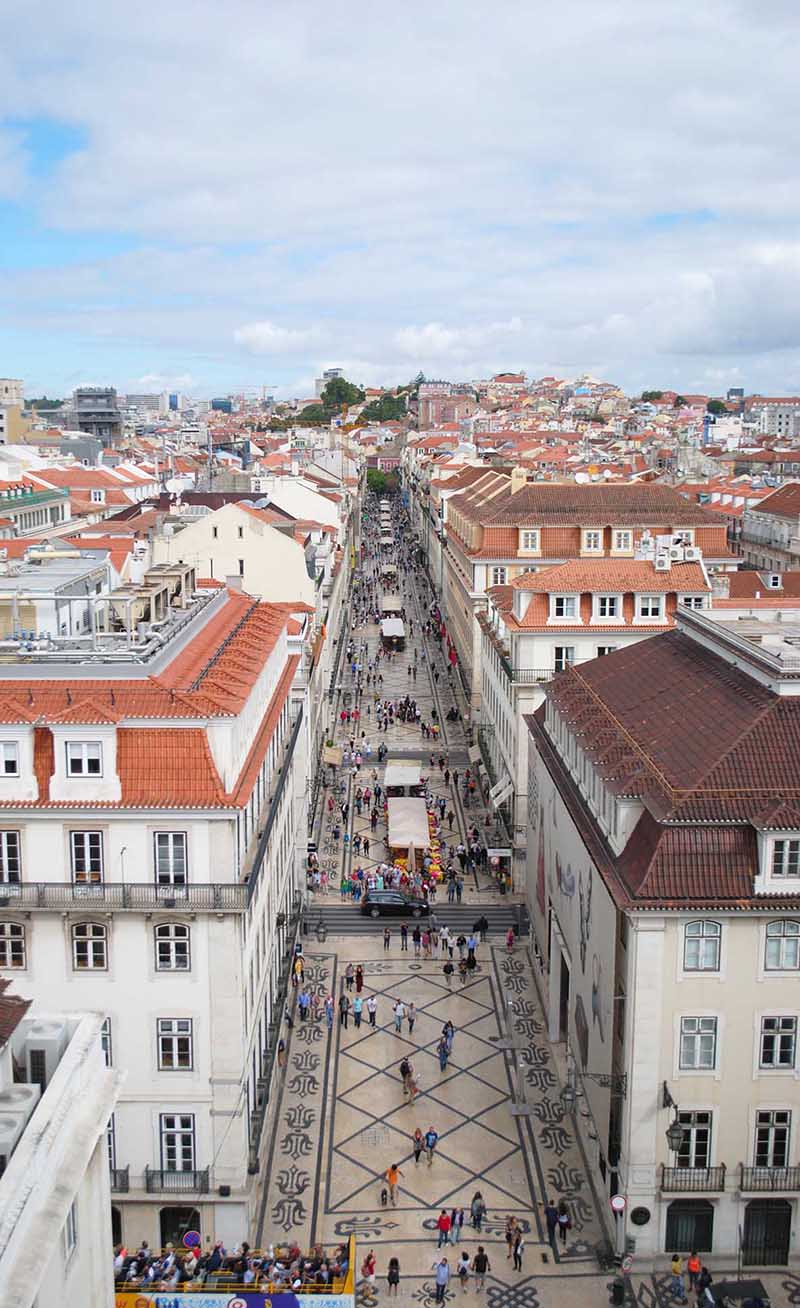
[[[800,5],[5,0],[0,375],[800,391]],[[769,16],[769,20],[767,20]]]

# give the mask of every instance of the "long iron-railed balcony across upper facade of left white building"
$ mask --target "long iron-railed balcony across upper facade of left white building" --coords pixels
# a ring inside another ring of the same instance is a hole
[[[243,913],[246,886],[156,886],[153,882],[22,882],[0,886],[0,909],[51,909],[86,913],[154,913],[162,909],[195,913]]]

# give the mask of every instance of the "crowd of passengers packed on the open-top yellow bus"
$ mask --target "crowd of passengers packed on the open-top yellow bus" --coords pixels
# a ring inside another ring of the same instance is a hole
[[[118,1290],[226,1291],[246,1287],[263,1294],[331,1294],[349,1270],[349,1245],[332,1250],[314,1245],[303,1253],[293,1241],[251,1249],[247,1241],[226,1249],[222,1240],[208,1248],[150,1249],[144,1240],[137,1249],[114,1248],[114,1282]]]

